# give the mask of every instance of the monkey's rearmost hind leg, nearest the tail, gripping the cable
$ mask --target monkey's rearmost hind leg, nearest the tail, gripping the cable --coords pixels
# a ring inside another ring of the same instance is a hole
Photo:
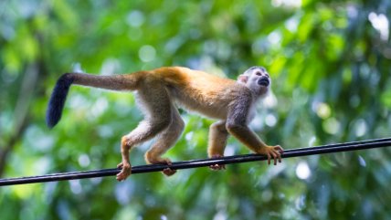
[[[142,91],[145,90],[143,89]],[[140,122],[137,128],[128,135],[122,137],[122,162],[118,165],[119,168],[122,168],[122,171],[117,174],[118,181],[125,180],[132,173],[132,166],[129,160],[129,151],[132,147],[143,141],[148,141],[159,132],[164,131],[172,121],[171,100],[165,89],[153,87],[146,91],[139,92],[139,98],[145,112],[145,120]]]

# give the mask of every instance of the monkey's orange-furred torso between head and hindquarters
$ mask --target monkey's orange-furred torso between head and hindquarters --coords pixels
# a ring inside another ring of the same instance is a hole
[[[211,118],[226,119],[228,105],[248,89],[232,79],[219,78],[190,68],[157,68],[154,77],[163,80],[177,104]]]

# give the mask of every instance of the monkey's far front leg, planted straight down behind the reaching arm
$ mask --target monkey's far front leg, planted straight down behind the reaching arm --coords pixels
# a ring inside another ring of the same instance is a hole
[[[207,147],[207,154],[209,158],[219,158],[224,156],[228,138],[228,131],[226,129],[226,121],[221,120],[213,123],[209,128],[209,145]],[[224,170],[226,165],[214,164],[209,166],[212,170]]]

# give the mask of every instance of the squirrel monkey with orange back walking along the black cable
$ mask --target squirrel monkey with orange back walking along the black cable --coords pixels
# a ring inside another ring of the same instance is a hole
[[[162,157],[184,130],[176,104],[187,110],[199,112],[218,119],[210,126],[207,153],[209,157],[222,157],[228,134],[233,135],[252,152],[271,157],[274,164],[281,162],[280,145],[266,145],[248,122],[255,116],[255,101],[264,96],[270,87],[269,74],[265,68],[248,68],[238,80],[222,79],[203,71],[190,68],[156,68],[132,74],[95,76],[90,74],[66,73],[62,75],[53,90],[48,103],[47,123],[52,128],[61,118],[61,112],[71,84],[113,90],[134,90],[145,118],[129,134],[122,137],[122,168],[117,180],[125,180],[131,173],[129,151],[135,145],[157,137],[151,149],[145,153],[148,163],[171,161]],[[214,170],[224,165],[213,165]],[[164,174],[172,175],[174,170],[165,169]]]

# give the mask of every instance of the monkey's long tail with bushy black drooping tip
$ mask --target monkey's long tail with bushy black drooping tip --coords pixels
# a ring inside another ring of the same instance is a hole
[[[137,89],[137,84],[141,76],[142,72],[113,76],[65,73],[58,79],[48,102],[46,117],[48,127],[53,128],[61,119],[62,110],[64,109],[65,100],[67,100],[70,85],[78,84],[82,86],[112,90],[134,90]]]

